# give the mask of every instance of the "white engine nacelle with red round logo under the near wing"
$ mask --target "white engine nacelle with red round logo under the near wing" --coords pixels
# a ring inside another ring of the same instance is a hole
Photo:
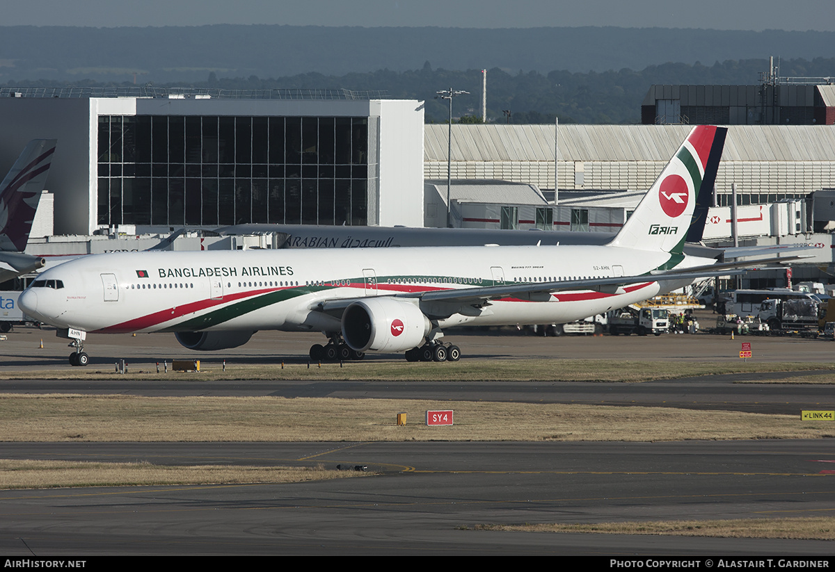
[[[354,302],[342,314],[342,337],[358,352],[402,352],[423,343],[432,330],[416,304],[391,298]]]

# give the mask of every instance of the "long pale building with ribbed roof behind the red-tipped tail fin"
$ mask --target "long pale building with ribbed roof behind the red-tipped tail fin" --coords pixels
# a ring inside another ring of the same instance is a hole
[[[501,179],[560,190],[645,191],[691,125],[453,125],[453,179]],[[447,126],[425,128],[423,176],[447,176]],[[835,126],[731,125],[716,206],[774,203],[835,188]],[[554,161],[554,153],[557,160]],[[559,193],[557,196],[559,203]]]

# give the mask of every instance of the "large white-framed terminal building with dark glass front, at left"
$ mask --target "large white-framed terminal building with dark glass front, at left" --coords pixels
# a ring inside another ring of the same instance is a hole
[[[58,139],[48,186],[61,234],[423,225],[420,102],[345,92],[236,95],[5,89],[0,168],[29,140]]]

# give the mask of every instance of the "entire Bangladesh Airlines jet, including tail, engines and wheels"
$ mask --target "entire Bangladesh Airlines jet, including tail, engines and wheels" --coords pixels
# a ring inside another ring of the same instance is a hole
[[[260,329],[321,331],[312,359],[454,361],[449,326],[565,323],[727,273],[682,249],[717,129],[693,128],[605,245],[94,254],[42,273],[20,306],[74,340],[74,365],[87,332],[173,332],[210,350]]]

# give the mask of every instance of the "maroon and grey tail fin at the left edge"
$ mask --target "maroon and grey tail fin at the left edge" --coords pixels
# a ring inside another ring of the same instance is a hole
[[[0,250],[26,248],[55,143],[55,139],[30,141],[0,183]]]

